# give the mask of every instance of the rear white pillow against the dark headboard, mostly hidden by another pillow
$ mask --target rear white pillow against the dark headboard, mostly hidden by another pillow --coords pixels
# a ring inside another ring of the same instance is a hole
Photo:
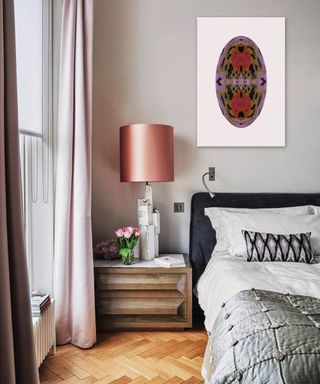
[[[204,214],[209,217],[211,225],[216,231],[217,244],[214,248],[214,253],[225,253],[229,251],[230,243],[227,240],[227,227],[226,218],[224,217],[225,212],[229,213],[246,213],[248,215],[269,212],[274,214],[315,214],[316,208],[312,205],[302,205],[298,207],[283,207],[283,208],[224,208],[224,207],[210,207],[204,209]],[[320,210],[318,211],[320,213]]]

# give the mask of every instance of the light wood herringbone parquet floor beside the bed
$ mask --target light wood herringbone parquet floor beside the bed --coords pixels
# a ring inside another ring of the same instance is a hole
[[[91,349],[57,348],[40,368],[43,384],[196,384],[207,335],[185,332],[105,332]]]

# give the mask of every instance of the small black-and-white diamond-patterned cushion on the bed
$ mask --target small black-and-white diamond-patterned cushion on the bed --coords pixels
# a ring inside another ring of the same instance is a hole
[[[247,261],[292,261],[313,263],[311,232],[276,235],[242,231],[247,246]]]

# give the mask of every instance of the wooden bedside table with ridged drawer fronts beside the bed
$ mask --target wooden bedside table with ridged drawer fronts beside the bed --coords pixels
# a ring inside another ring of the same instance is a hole
[[[184,329],[192,327],[192,269],[164,268],[138,260],[95,260],[98,330]]]

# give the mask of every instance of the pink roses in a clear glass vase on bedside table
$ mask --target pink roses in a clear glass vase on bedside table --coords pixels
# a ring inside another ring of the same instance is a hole
[[[133,249],[137,245],[141,235],[141,229],[136,227],[122,227],[115,231],[117,243],[119,245],[119,254],[124,264],[133,263]]]

